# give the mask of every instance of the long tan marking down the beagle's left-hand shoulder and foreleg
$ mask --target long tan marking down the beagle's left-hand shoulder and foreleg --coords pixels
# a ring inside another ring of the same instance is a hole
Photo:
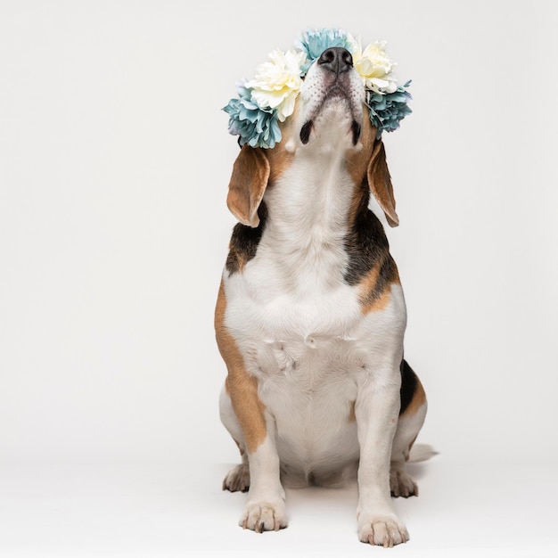
[[[233,336],[225,325],[226,295],[223,282],[219,287],[215,308],[217,346],[226,363],[226,392],[231,397],[234,414],[241,425],[244,443],[253,453],[266,439],[266,407],[258,397],[258,382],[246,371],[244,359]]]

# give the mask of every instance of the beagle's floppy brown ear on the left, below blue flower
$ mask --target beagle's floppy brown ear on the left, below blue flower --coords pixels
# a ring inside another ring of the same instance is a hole
[[[234,161],[226,205],[242,225],[259,225],[258,207],[266,192],[269,161],[262,149],[243,145]]]

